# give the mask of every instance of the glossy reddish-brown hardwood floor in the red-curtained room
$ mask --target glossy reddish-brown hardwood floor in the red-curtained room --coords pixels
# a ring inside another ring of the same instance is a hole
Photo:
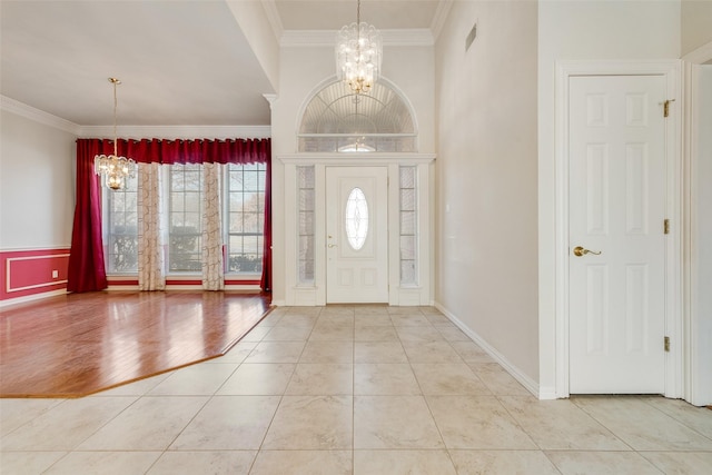
[[[269,310],[230,291],[69,294],[0,313],[0,397],[79,397],[225,354]]]

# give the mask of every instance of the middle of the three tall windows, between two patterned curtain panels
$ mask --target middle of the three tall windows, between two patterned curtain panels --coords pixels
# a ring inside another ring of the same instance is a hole
[[[170,166],[168,271],[199,273],[202,269],[202,166]]]

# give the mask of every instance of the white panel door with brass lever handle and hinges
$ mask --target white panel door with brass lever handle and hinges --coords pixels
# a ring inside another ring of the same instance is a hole
[[[664,91],[659,76],[570,80],[572,394],[664,393]]]

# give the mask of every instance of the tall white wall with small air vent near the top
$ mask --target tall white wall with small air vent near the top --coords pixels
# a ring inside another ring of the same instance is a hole
[[[536,16],[532,1],[456,1],[436,43],[437,305],[534,392]]]

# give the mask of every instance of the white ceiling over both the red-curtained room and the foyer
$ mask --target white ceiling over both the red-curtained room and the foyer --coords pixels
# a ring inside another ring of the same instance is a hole
[[[260,1],[275,34],[334,30],[355,0]],[[432,27],[441,0],[362,1],[382,30]],[[445,0],[443,0],[445,1]],[[275,93],[225,0],[0,1],[0,95],[78,126],[267,126]]]

